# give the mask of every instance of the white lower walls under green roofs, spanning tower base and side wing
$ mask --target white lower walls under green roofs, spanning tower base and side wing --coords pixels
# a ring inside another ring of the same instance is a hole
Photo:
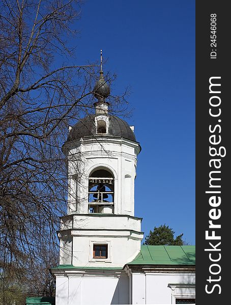
[[[125,271],[64,271],[56,276],[56,305],[175,304],[176,298],[195,298],[194,273],[136,272],[130,277],[131,291]]]

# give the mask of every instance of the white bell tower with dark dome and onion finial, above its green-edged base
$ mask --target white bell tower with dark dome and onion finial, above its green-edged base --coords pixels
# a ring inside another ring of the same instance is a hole
[[[79,120],[63,146],[69,192],[59,231],[60,265],[123,268],[140,251],[134,180],[141,148],[133,127],[108,114],[109,94],[101,68],[95,114]]]

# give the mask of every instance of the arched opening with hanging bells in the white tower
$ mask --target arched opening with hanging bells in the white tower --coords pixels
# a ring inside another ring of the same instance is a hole
[[[114,176],[106,169],[96,169],[89,176],[89,213],[114,213]]]

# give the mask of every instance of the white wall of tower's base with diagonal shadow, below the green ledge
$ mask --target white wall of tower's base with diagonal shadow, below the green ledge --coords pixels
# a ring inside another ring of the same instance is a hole
[[[56,277],[56,305],[129,304],[125,272]]]

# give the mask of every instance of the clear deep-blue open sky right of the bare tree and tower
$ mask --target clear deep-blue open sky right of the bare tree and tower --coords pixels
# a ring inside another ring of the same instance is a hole
[[[195,244],[195,1],[85,0],[75,41],[77,63],[95,62],[131,86],[142,150],[135,216],[142,230],[169,225]]]

